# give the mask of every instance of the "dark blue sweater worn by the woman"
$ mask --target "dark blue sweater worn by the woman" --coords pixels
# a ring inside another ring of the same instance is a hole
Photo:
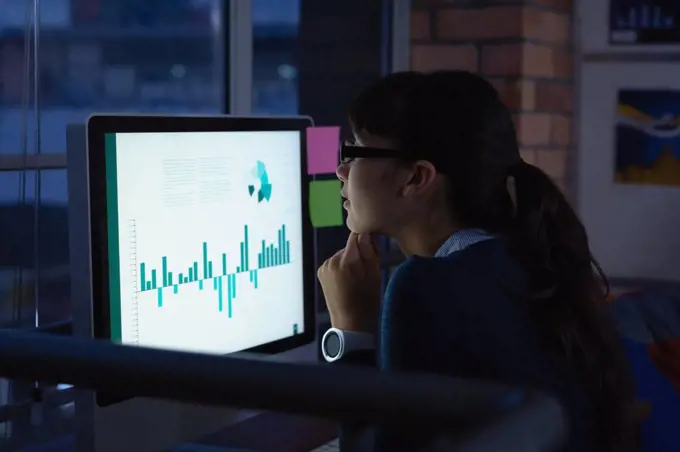
[[[348,356],[346,363],[545,390],[567,410],[567,450],[588,452],[588,401],[575,377],[558,370],[556,357],[542,345],[524,293],[524,272],[501,240],[446,257],[410,257],[388,284],[378,356]],[[341,445],[343,451],[417,451],[427,442],[419,436],[343,426]]]

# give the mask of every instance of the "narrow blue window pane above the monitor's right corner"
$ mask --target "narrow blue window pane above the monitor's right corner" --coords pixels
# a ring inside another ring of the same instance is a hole
[[[253,111],[298,113],[300,0],[253,0]],[[274,7],[274,5],[276,5]]]

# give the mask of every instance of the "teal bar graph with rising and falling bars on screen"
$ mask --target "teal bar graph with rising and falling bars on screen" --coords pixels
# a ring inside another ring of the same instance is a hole
[[[261,270],[290,263],[290,241],[286,237],[285,225],[282,225],[277,231],[277,238],[274,243],[267,243],[266,240],[261,240],[256,268],[251,268],[250,265],[248,225],[243,227],[243,241],[239,243],[238,258],[230,259],[225,252],[218,254],[220,259],[217,262],[218,265],[221,262],[221,270],[215,271],[213,261],[209,257],[210,245],[208,242],[201,244],[200,253],[200,259],[193,261],[188,267],[182,268],[177,273],[169,270],[172,263],[167,255],[161,256],[160,262],[156,262],[157,264],[160,263],[160,269],[151,268],[153,265],[150,265],[149,262],[141,262],[139,264],[139,291],[157,291],[157,305],[159,308],[162,308],[165,306],[165,289],[172,289],[171,295],[176,295],[182,290],[181,286],[197,282],[198,290],[202,291],[210,287],[210,285],[205,286],[205,282],[212,280],[212,290],[217,292],[217,310],[223,312],[226,309],[227,316],[231,317],[233,301],[238,293],[237,283],[241,278],[240,274],[248,273],[248,282],[254,289],[257,289],[259,287],[259,272]],[[231,262],[232,265],[238,262],[239,265],[230,271],[227,266],[228,262]],[[201,267],[200,273],[199,263]],[[158,271],[160,271],[160,275],[158,275]],[[173,274],[177,275],[176,280]]]

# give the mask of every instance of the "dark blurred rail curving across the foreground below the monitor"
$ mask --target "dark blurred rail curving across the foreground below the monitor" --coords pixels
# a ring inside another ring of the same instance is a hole
[[[426,425],[446,450],[553,451],[560,405],[532,390],[371,369],[267,362],[0,332],[0,376],[204,405],[306,414],[384,426]],[[481,447],[484,447],[483,449]]]

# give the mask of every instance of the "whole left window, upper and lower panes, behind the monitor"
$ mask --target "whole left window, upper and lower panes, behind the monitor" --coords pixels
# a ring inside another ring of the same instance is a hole
[[[228,9],[50,0],[34,34],[33,0],[0,3],[0,326],[34,326],[70,317],[66,125],[94,112],[226,111]]]

